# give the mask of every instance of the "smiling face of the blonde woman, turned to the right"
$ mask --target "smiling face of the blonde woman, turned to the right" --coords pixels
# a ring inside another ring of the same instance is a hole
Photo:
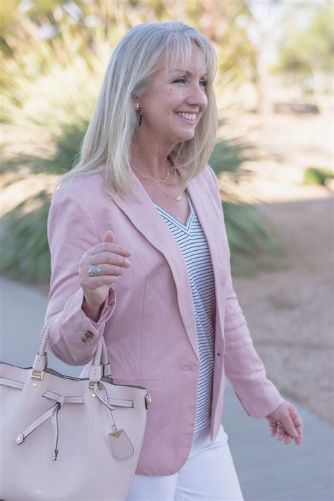
[[[193,44],[187,68],[159,68],[149,89],[138,101],[142,106],[140,135],[163,147],[191,140],[208,104],[206,68],[202,51]],[[188,113],[187,116],[182,113]]]

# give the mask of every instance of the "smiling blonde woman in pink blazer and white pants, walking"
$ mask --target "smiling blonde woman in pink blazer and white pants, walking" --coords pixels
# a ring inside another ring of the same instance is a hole
[[[266,378],[237,302],[218,181],[210,42],[145,23],[113,52],[81,157],[49,213],[50,349],[91,361],[104,335],[113,381],[151,394],[128,500],[242,500],[221,425],[225,375],[249,416],[302,441]]]

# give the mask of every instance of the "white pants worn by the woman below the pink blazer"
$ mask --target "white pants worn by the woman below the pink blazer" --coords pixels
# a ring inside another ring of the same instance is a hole
[[[211,442],[210,425],[194,433],[183,467],[168,476],[135,475],[126,501],[243,501],[223,425]]]

